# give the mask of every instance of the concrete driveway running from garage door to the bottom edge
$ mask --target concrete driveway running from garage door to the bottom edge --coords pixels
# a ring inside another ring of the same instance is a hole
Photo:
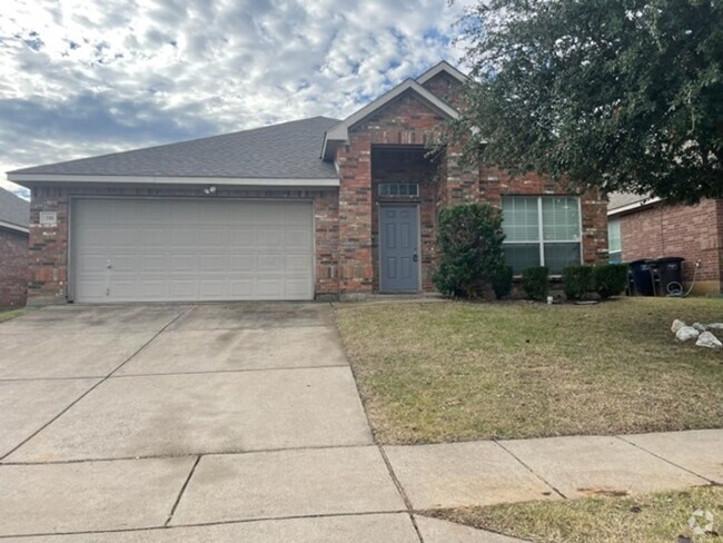
[[[328,304],[0,324],[0,430],[4,541],[502,541],[413,522]]]

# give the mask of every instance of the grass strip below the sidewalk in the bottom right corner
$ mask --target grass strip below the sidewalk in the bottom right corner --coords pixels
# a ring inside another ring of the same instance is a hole
[[[586,497],[425,512],[447,521],[522,537],[536,543],[714,543],[715,534],[694,534],[694,512],[713,515],[723,527],[723,487],[706,486],[634,497]],[[700,527],[704,519],[697,519]],[[679,539],[680,537],[680,539]]]

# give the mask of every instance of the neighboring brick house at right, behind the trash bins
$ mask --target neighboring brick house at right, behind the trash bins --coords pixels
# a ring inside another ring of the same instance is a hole
[[[616,192],[610,195],[607,220],[611,260],[683,257],[686,289],[695,278],[694,294],[723,292],[723,199],[668,206],[660,198]]]

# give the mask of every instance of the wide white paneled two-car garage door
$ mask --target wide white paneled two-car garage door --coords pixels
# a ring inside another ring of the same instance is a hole
[[[77,302],[313,299],[310,203],[78,199]]]

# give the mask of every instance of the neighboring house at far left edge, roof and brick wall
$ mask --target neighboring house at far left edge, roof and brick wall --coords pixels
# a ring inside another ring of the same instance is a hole
[[[28,293],[30,204],[0,188],[0,307],[23,307]]]

